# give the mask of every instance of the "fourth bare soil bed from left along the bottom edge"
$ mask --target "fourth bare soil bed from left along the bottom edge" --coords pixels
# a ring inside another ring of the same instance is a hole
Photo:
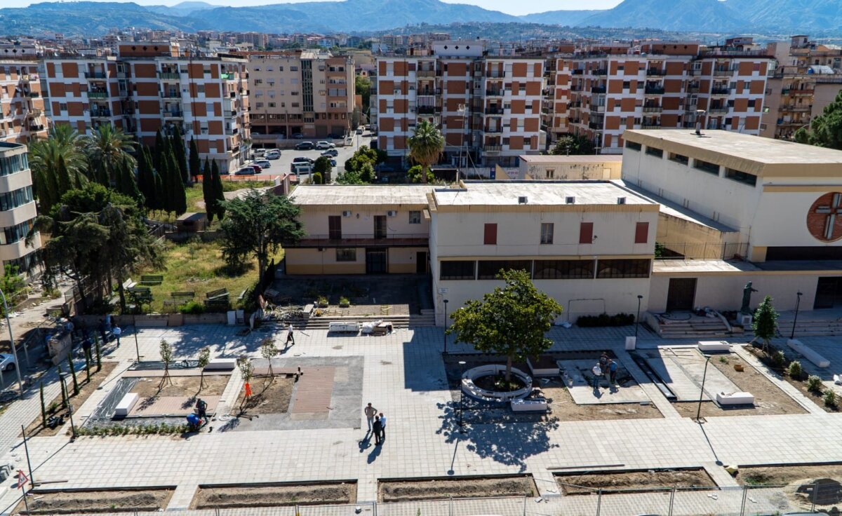
[[[657,487],[687,489],[695,487],[717,487],[706,471],[696,470],[650,470],[650,471],[601,471],[580,475],[557,475],[558,485],[565,495],[592,494],[596,489],[603,493],[650,491]]]

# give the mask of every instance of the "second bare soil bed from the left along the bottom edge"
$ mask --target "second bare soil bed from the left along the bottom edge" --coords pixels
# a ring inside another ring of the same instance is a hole
[[[254,487],[200,487],[190,508],[271,507],[355,503],[355,482],[276,484]]]

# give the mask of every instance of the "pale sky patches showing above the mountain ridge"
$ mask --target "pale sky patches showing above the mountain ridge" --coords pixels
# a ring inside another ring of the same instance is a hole
[[[128,2],[129,0],[109,0],[112,2]],[[289,2],[305,2],[312,0],[288,0]],[[557,11],[561,9],[607,9],[616,6],[621,0],[520,0],[513,2],[512,0],[442,0],[446,3],[471,3],[478,5],[481,8],[491,9],[493,11],[501,11],[514,15],[542,13],[544,11]],[[134,0],[135,3],[141,5],[175,5],[181,0]],[[33,2],[32,0],[3,0],[2,7],[4,8],[21,8],[26,7]],[[232,0],[231,2],[224,2],[222,0],[210,0],[207,3],[231,6],[247,6],[247,5],[266,5],[272,2],[271,0]]]

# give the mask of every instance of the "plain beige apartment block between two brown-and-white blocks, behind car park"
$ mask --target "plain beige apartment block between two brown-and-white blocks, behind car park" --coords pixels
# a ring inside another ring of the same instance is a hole
[[[340,138],[355,128],[354,60],[329,52],[247,52],[255,142]]]

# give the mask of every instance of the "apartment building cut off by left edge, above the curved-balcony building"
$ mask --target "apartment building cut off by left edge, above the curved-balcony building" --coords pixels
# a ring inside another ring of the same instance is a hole
[[[46,134],[38,61],[0,58],[0,142],[25,144]]]

